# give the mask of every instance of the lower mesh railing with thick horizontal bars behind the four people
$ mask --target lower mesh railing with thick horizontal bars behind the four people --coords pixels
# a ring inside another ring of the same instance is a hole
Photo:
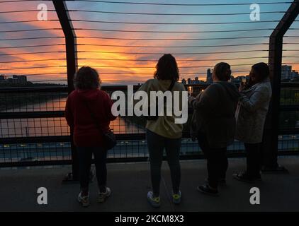
[[[200,92],[207,85],[192,86]],[[137,90],[139,86],[135,85]],[[283,83],[281,92],[279,155],[299,151],[299,83]],[[125,85],[103,86],[112,94],[127,90]],[[60,165],[72,162],[70,131],[64,119],[67,87],[0,88],[0,166]],[[181,158],[203,157],[197,142],[191,141],[189,124],[184,126]],[[145,140],[145,119],[118,117],[111,122],[118,145],[108,153],[110,162],[145,161],[148,158]],[[235,141],[228,155],[244,156],[244,146]]]

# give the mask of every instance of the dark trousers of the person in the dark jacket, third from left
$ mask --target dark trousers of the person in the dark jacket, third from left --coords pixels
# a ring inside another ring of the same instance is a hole
[[[198,133],[198,144],[207,160],[208,183],[211,187],[217,189],[219,180],[225,179],[228,167],[227,147],[210,148],[205,133]]]

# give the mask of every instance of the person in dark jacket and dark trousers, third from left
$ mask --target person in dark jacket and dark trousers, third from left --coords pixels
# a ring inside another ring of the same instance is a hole
[[[196,98],[189,97],[194,109],[192,127],[196,127],[198,144],[207,159],[207,183],[197,188],[204,194],[218,195],[218,183],[225,183],[227,146],[235,138],[235,110],[239,93],[235,85],[228,82],[230,76],[229,64],[216,64],[213,83]]]

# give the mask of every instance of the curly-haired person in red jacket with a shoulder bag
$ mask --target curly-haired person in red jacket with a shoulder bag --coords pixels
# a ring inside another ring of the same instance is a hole
[[[98,180],[98,202],[104,202],[111,194],[111,189],[106,186],[107,150],[103,145],[103,133],[109,130],[110,121],[115,120],[116,117],[111,113],[113,102],[106,92],[99,89],[100,84],[95,69],[81,67],[74,76],[75,90],[67,97],[65,107],[67,124],[74,129],[74,144],[79,153],[81,192],[78,201],[82,206],[89,206],[89,172],[92,154],[94,154]]]

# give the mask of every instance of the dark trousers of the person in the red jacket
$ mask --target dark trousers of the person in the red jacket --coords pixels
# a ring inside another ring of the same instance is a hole
[[[89,174],[91,169],[92,154],[94,154],[94,164],[96,165],[96,179],[98,180],[98,189],[100,189],[100,191],[105,191],[107,181],[107,150],[101,147],[77,147],[77,150],[79,153],[79,180],[81,190],[89,190]]]

